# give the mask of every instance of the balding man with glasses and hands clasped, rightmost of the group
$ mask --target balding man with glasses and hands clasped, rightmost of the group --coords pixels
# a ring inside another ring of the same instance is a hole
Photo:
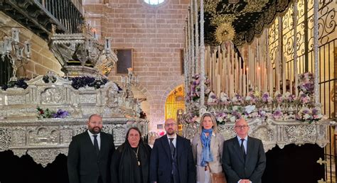
[[[260,183],[266,167],[262,141],[248,136],[250,127],[244,118],[236,121],[235,138],[223,143],[223,170],[228,183]]]

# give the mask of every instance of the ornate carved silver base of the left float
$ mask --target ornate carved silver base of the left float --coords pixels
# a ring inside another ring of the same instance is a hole
[[[46,166],[58,154],[68,154],[73,136],[87,130],[87,117],[92,113],[102,114],[103,131],[113,134],[117,146],[124,143],[130,126],[137,126],[142,135],[148,133],[149,121],[137,118],[134,99],[118,103],[125,91],[119,91],[113,82],[100,89],[77,90],[68,79],[49,77],[55,82],[45,83],[43,76],[38,76],[27,82],[27,89],[0,90],[0,150],[12,150],[18,156],[27,153]],[[70,116],[38,119],[37,107],[62,109]]]

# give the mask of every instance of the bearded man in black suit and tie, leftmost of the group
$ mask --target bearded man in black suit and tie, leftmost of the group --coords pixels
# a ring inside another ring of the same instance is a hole
[[[92,114],[87,131],[73,137],[68,151],[70,183],[109,183],[114,140],[102,131],[102,117]]]

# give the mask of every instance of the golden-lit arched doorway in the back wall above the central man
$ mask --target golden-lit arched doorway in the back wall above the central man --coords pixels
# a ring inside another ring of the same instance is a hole
[[[165,102],[165,120],[168,118],[175,119],[178,123],[178,132],[182,131],[182,126],[180,121],[178,121],[178,116],[182,115],[184,111],[185,93],[183,84],[181,84],[170,92]]]

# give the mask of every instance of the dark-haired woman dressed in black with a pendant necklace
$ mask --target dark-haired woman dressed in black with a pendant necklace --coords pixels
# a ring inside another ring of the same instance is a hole
[[[125,142],[112,155],[112,183],[148,183],[150,154],[139,129],[129,128]]]

